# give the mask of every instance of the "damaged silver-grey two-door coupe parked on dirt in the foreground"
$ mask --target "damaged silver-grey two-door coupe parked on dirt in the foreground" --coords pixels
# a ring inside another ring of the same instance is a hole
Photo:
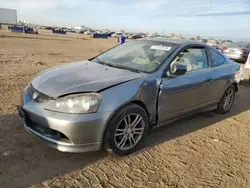
[[[137,150],[148,129],[200,111],[230,111],[240,65],[214,48],[131,40],[39,73],[21,93],[25,128],[64,152]]]

